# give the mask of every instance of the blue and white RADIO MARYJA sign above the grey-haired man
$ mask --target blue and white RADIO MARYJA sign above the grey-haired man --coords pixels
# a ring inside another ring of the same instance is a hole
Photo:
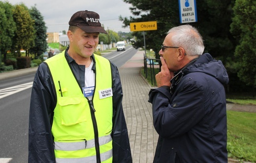
[[[180,23],[197,22],[196,1],[179,0]]]

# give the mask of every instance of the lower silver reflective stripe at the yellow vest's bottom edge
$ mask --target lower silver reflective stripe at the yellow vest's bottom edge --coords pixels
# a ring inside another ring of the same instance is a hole
[[[112,157],[112,150],[100,154],[101,162],[104,162]],[[56,158],[56,163],[96,163],[96,156],[84,157],[84,158]],[[110,162],[112,163],[112,161]]]

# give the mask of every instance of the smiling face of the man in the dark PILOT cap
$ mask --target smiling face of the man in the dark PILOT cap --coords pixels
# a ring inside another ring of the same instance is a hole
[[[98,45],[99,33],[87,33],[80,28],[67,32],[70,46],[68,54],[74,58],[90,58]]]

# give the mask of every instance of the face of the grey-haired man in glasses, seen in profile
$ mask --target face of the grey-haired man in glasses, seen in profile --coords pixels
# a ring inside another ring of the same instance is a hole
[[[170,71],[177,71],[179,70],[179,62],[178,62],[178,57],[179,57],[179,48],[172,48],[175,47],[172,42],[171,42],[171,33],[169,33],[164,41],[163,41],[163,46],[167,46],[167,48],[160,49],[159,55],[163,57],[168,69]]]

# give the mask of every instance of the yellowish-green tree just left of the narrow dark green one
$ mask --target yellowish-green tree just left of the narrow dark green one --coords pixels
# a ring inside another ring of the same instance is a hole
[[[21,49],[26,51],[34,45],[35,29],[29,9],[23,4],[15,5],[13,19],[16,23],[13,50],[17,51],[18,57],[21,56]]]

